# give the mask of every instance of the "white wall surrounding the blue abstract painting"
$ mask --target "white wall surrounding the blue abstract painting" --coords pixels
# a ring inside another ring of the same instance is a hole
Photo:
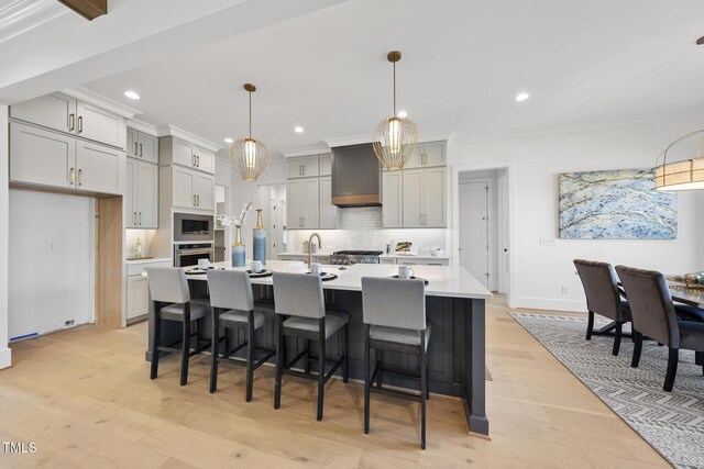
[[[701,119],[680,116],[451,143],[448,159],[455,172],[460,168],[510,166],[512,306],[584,311],[574,258],[662,272],[700,270],[704,263],[698,242],[704,225],[701,191],[680,193],[676,239],[557,239],[553,247],[540,246],[540,238],[558,237],[560,172],[649,168],[670,142],[700,127]],[[692,154],[680,154],[680,159],[685,157]]]

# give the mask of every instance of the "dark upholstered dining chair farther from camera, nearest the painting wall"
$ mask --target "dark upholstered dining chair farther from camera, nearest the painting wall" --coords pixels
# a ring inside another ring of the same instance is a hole
[[[610,264],[595,260],[574,259],[574,267],[580,275],[586,294],[588,310],[586,339],[591,340],[592,335],[605,335],[608,333],[607,331],[614,328],[612,354],[618,355],[623,326],[630,322],[630,309],[628,301],[622,299],[616,271]],[[606,331],[594,331],[594,314],[608,317],[614,324]]]

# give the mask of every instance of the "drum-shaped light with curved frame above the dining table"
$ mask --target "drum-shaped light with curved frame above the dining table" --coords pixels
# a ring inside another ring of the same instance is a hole
[[[684,161],[668,163],[668,150],[682,141],[704,133],[704,129],[682,135],[658,155],[656,165],[662,157],[662,165],[656,166],[656,189],[660,191],[680,191],[704,189],[704,158],[701,157],[704,137],[696,147],[696,157]]]

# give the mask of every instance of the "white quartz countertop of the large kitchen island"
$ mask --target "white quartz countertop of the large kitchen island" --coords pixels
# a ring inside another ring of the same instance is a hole
[[[215,263],[216,268],[224,268],[228,270],[246,270],[246,267],[231,267],[230,261]],[[322,282],[326,290],[348,290],[362,291],[362,277],[391,277],[398,273],[398,266],[384,264],[356,264],[354,266],[345,266],[344,270],[340,270],[340,266],[322,266],[322,270],[329,273],[336,273],[337,279]],[[305,273],[307,267],[297,267],[285,260],[267,260],[266,269],[278,272]],[[188,270],[189,268],[186,268]],[[448,298],[472,298],[472,299],[490,299],[493,298],[479,280],[476,280],[469,271],[459,266],[414,266],[416,277],[428,280],[426,294],[428,297],[448,297]],[[188,275],[189,280],[206,280],[206,275]],[[253,284],[272,284],[272,277],[252,278]]]

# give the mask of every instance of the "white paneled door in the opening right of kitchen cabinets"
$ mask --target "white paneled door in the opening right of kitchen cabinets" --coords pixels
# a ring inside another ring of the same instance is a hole
[[[460,266],[488,288],[488,183],[460,183]]]

